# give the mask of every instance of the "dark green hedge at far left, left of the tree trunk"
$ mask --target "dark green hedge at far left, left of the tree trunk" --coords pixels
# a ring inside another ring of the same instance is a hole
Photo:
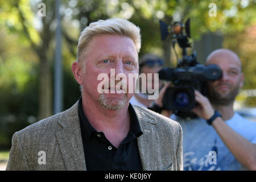
[[[9,148],[12,135],[36,121],[38,115],[37,78],[29,77],[22,92],[15,81],[0,89],[0,148]]]

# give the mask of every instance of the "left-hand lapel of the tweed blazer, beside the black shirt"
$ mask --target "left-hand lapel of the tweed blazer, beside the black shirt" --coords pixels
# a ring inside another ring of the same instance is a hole
[[[59,121],[61,130],[56,132],[56,138],[67,170],[86,170],[84,147],[78,115],[78,102],[67,111]]]

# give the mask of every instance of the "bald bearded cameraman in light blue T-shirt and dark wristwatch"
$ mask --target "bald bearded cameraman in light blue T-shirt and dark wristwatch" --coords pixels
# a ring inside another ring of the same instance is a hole
[[[171,116],[183,128],[184,170],[256,170],[256,122],[233,109],[243,86],[241,60],[228,49],[217,49],[207,57],[208,64],[217,64],[222,77],[207,83],[208,98],[195,91],[199,105],[192,111],[199,118],[185,121]],[[155,101],[160,107],[164,89]]]

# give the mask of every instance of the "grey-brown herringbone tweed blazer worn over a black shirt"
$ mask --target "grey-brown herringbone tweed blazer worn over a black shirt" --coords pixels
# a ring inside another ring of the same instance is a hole
[[[143,131],[137,139],[142,169],[183,170],[179,123],[144,107],[133,107]],[[76,102],[62,113],[16,132],[6,170],[86,170],[85,155]]]

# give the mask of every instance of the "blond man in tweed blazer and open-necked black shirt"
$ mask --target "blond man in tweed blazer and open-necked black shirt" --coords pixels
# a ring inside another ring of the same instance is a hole
[[[179,123],[132,106],[133,93],[120,92],[135,86],[130,77],[119,89],[111,81],[138,74],[139,31],[128,20],[108,19],[81,32],[72,64],[79,101],[16,132],[7,170],[183,169]],[[102,74],[110,82],[99,86]]]

